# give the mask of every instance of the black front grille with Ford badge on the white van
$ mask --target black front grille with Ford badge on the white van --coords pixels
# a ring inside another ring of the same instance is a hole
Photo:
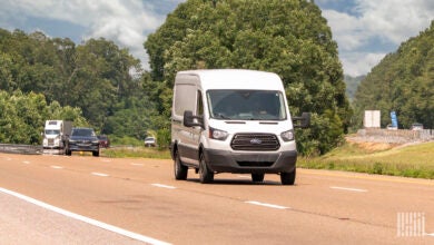
[[[230,147],[234,150],[276,150],[280,144],[277,136],[270,134],[236,134]]]

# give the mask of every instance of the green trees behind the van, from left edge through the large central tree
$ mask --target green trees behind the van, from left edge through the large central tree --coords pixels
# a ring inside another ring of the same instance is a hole
[[[313,1],[188,0],[144,47],[149,71],[109,40],[76,45],[0,30],[0,89],[81,110],[103,134],[140,139],[154,131],[168,145],[177,71],[265,70],[282,77],[294,116],[313,112],[310,129],[296,131],[302,154],[327,153],[348,129],[352,109],[337,45]]]

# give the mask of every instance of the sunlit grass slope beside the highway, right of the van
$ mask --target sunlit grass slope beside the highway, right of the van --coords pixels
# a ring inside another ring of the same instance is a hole
[[[325,156],[300,157],[297,166],[434,179],[434,141],[405,147],[346,143]]]

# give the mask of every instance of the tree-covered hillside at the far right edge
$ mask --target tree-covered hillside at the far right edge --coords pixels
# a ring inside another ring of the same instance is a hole
[[[434,128],[434,21],[388,53],[361,82],[355,95],[355,127],[364,110],[381,110],[382,127],[396,111],[400,128],[421,122]]]

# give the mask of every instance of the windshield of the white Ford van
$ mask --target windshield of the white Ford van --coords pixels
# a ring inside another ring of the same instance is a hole
[[[285,99],[273,90],[208,90],[211,118],[226,120],[285,120]]]

